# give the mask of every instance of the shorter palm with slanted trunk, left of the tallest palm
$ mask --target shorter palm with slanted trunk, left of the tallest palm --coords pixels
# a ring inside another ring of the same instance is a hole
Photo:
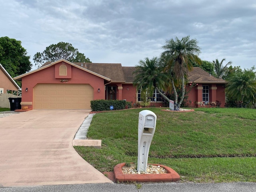
[[[133,72],[133,74],[135,74],[133,82],[137,90],[148,90],[149,93],[152,93],[153,90],[156,89],[162,97],[169,101],[159,90],[164,88],[167,75],[163,72],[158,57],[153,57],[152,59],[146,57],[144,60],[140,60],[135,68]]]

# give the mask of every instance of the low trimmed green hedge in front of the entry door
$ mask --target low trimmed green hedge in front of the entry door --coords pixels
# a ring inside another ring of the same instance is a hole
[[[125,100],[92,100],[91,108],[92,111],[109,111],[110,106],[113,106],[113,110],[125,109],[126,105],[128,108],[132,107],[130,102],[126,102]]]

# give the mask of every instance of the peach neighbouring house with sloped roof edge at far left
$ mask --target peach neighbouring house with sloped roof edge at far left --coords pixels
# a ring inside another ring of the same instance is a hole
[[[13,94],[14,91],[16,91],[16,94],[18,94],[18,90],[20,90],[18,84],[0,64],[0,94]]]

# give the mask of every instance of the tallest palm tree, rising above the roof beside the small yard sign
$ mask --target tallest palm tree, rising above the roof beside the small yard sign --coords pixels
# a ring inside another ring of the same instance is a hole
[[[202,61],[198,57],[201,53],[200,47],[197,45],[196,39],[190,40],[190,36],[183,37],[179,40],[177,37],[171,40],[166,40],[166,44],[162,46],[165,51],[162,52],[162,58],[165,58],[166,68],[172,72],[172,88],[174,90],[175,102],[178,103],[178,95],[176,92],[174,79],[180,80],[180,87],[182,89],[182,96],[178,103],[180,107],[185,94],[185,77],[188,70],[192,70],[193,63],[201,64]]]

